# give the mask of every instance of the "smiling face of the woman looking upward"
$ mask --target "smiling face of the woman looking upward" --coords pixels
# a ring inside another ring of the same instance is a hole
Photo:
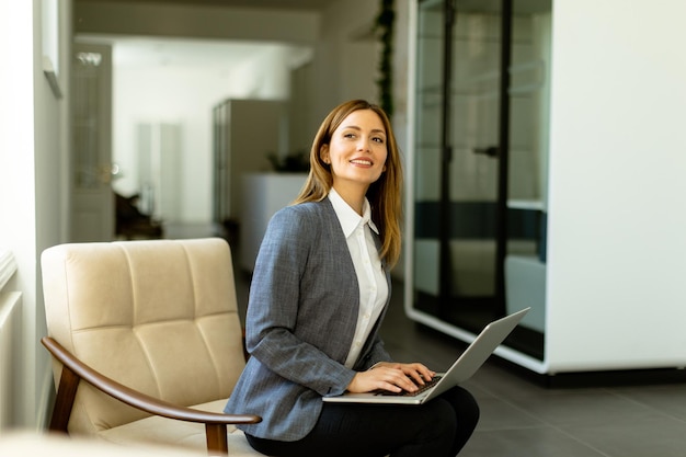
[[[371,110],[347,115],[320,150],[331,165],[333,186],[364,185],[365,191],[386,171],[388,148],[381,118]]]

